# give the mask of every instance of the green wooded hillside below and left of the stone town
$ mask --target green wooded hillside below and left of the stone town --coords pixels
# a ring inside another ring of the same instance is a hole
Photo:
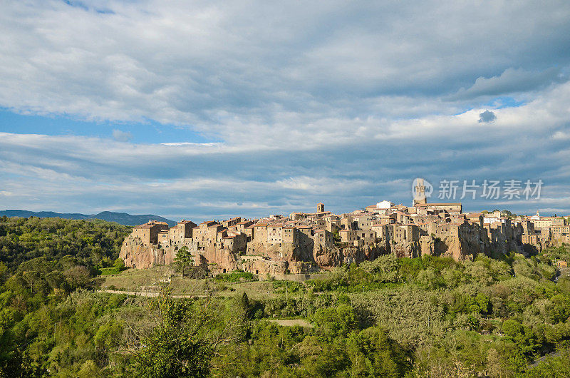
[[[308,282],[187,278],[203,295],[165,283],[151,300],[95,291],[121,226],[0,227],[0,377],[570,376],[570,277],[555,267],[568,246],[463,263],[385,255]],[[252,284],[262,297],[240,292]],[[304,327],[275,322],[287,318]]]

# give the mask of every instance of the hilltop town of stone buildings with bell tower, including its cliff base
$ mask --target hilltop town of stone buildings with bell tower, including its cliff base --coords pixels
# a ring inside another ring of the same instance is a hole
[[[561,242],[570,242],[570,225],[564,218],[463,213],[461,203],[427,203],[420,180],[412,206],[383,200],[337,215],[318,203],[314,213],[236,217],[199,225],[182,220],[172,228],[149,220],[125,238],[120,257],[127,267],[168,265],[180,248],[187,247],[195,265],[211,272],[241,269],[283,275],[374,260],[387,253],[462,261],[480,253],[527,255]]]

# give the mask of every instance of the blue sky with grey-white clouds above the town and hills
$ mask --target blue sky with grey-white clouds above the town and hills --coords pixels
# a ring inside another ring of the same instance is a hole
[[[569,158],[566,0],[0,3],[0,210],[345,213],[425,178],[570,215]]]

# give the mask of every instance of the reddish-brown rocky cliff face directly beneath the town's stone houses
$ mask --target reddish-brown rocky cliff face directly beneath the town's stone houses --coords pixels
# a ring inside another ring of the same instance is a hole
[[[293,245],[292,243],[269,244],[264,242],[249,242],[247,251],[232,252],[220,249],[214,245],[197,247],[192,240],[187,239],[180,245],[170,245],[162,248],[156,245],[143,244],[140,239],[128,236],[123,242],[120,257],[125,266],[147,268],[154,265],[167,265],[176,257],[177,250],[186,245],[197,264],[204,264],[212,272],[230,272],[242,269],[259,275],[282,275],[291,273],[310,273],[321,269],[331,269],[341,265],[360,263],[374,260],[380,255],[394,253],[398,257],[421,257],[422,255],[449,256],[457,261],[472,260],[479,253],[486,253],[489,247],[480,235],[479,228],[465,228],[459,236],[435,238],[422,236],[417,242],[403,243],[375,243],[363,246],[333,246],[323,247],[306,243]],[[498,240],[507,250],[511,240]]]

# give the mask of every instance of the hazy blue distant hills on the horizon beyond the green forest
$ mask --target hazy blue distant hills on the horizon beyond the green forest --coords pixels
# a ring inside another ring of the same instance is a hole
[[[152,214],[142,214],[142,215],[130,215],[127,213],[113,213],[112,211],[103,211],[95,215],[79,214],[79,213],[55,213],[53,211],[28,211],[28,210],[4,210],[0,211],[0,217],[6,215],[6,217],[22,217],[29,218],[31,216],[38,218],[64,218],[64,219],[100,219],[107,220],[108,222],[116,222],[120,225],[142,225],[142,223],[147,223],[149,219],[161,220],[162,222],[168,223],[168,225],[176,225],[174,220],[162,218],[158,215]]]

